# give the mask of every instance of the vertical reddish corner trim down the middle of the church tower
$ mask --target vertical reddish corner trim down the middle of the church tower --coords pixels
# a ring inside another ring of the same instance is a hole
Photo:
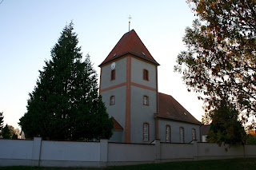
[[[130,73],[131,73],[131,57],[127,57],[126,61],[126,124],[125,124],[125,142],[130,143]]]

